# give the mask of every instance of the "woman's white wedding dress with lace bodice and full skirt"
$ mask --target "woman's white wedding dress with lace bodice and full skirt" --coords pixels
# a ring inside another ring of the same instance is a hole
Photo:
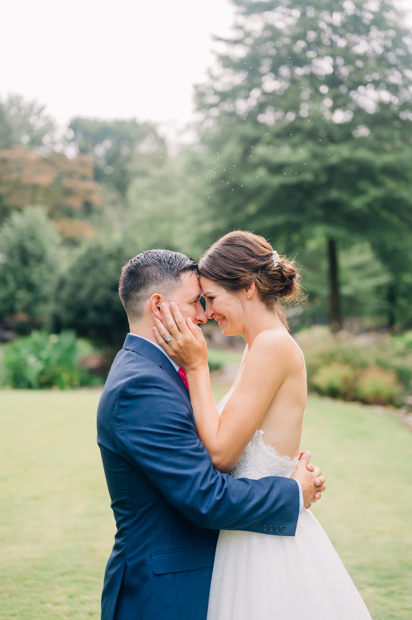
[[[220,401],[220,414],[230,395],[231,391]],[[291,477],[298,457],[280,456],[264,443],[263,434],[255,432],[231,476]],[[207,620],[302,619],[371,620],[332,542],[311,511],[304,509],[299,516],[295,536],[221,531]]]

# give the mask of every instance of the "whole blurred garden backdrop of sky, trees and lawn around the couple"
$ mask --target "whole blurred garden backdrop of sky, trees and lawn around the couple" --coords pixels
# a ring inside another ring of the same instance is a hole
[[[121,267],[236,228],[301,265],[315,510],[374,619],[410,618],[410,2],[24,0],[0,58],[0,618],[98,618]],[[242,339],[205,334],[218,397]]]

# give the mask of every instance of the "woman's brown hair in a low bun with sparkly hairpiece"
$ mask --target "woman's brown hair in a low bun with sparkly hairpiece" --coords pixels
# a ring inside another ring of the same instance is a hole
[[[284,324],[287,322],[279,302],[290,304],[304,298],[294,261],[274,255],[270,243],[252,232],[228,232],[218,239],[200,259],[199,274],[231,293],[254,282],[259,298],[267,308],[279,312]]]

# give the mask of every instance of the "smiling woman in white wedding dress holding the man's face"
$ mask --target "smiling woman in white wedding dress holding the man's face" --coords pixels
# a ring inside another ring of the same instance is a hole
[[[263,237],[234,231],[202,257],[199,281],[208,319],[218,321],[224,335],[246,340],[238,376],[216,405],[202,330],[191,319],[186,325],[173,302],[174,320],[163,310],[168,332],[155,319],[158,342],[186,370],[199,437],[215,469],[231,476],[291,477],[299,460],[306,368],[278,300],[299,297],[299,273]],[[371,620],[310,510],[299,516],[293,537],[220,532],[207,619],[252,618]]]

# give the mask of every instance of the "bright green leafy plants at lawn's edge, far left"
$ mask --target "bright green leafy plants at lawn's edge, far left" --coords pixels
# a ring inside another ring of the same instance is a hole
[[[17,389],[68,389],[100,383],[80,366],[74,332],[33,331],[6,346],[3,365],[3,383]]]

